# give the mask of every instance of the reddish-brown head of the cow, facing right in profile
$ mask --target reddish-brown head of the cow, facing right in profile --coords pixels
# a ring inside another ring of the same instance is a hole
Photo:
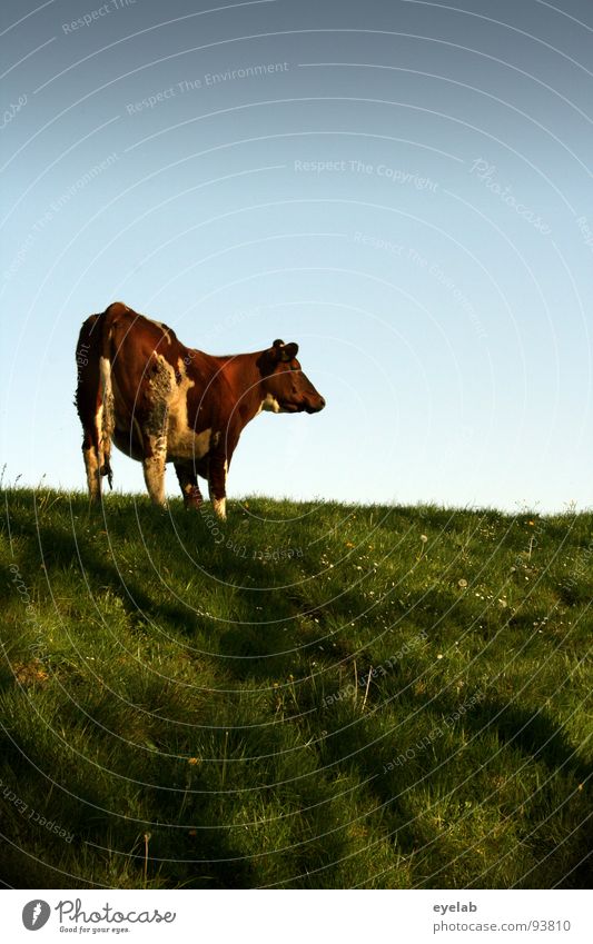
[[[325,400],[303,374],[296,359],[298,345],[276,340],[263,351],[258,367],[261,374],[263,408],[273,413],[319,413]]]

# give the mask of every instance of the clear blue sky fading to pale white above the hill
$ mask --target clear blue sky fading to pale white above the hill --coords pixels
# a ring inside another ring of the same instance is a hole
[[[231,498],[592,506],[590,2],[1,20],[4,483],[86,487],[77,336],[119,299],[213,354],[299,344],[327,407],[254,420]]]

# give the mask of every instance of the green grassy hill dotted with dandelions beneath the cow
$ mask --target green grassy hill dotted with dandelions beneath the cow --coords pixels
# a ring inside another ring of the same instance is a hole
[[[585,887],[593,515],[3,500],[4,883]]]

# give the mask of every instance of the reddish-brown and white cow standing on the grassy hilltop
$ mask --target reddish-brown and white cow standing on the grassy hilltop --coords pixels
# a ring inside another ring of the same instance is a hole
[[[297,344],[278,339],[254,354],[216,357],[121,301],[91,315],[78,339],[75,400],[91,500],[101,499],[105,476],[111,487],[115,443],[142,464],[155,505],[166,507],[165,466],[172,463],[185,506],[201,506],[200,476],[226,518],[227,473],[245,426],[261,410],[325,407],[297,354]]]

